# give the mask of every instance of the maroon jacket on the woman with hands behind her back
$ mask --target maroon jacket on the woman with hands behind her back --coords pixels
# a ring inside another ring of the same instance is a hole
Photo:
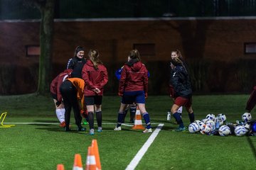
[[[107,69],[103,64],[98,65],[96,70],[90,60],[87,60],[86,64],[82,67],[82,79],[85,80],[85,96],[102,96],[103,87],[107,84]],[[100,89],[100,93],[97,94],[92,89]]]

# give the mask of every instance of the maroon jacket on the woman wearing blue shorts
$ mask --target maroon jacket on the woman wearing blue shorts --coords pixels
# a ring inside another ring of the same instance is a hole
[[[148,71],[142,62],[135,62],[132,65],[124,64],[119,81],[119,94],[124,91],[148,92]]]

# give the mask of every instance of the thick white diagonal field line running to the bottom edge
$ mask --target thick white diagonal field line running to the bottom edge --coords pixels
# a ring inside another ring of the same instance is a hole
[[[154,142],[156,136],[159,134],[159,132],[160,132],[161,128],[163,128],[163,126],[164,126],[164,123],[160,123],[157,126],[156,130],[154,130],[154,132],[150,135],[149,139],[146,140],[146,143],[144,143],[142,148],[139,149],[139,152],[137,152],[134,159],[132,159],[132,161],[129,163],[129,165],[127,166],[127,168],[125,170],[134,170],[136,168],[136,166],[139,164],[140,160],[146,153],[147,149],[149,149],[150,145]]]

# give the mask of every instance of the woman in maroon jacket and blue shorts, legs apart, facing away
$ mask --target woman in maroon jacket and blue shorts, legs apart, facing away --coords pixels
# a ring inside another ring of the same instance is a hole
[[[122,130],[125,108],[128,104],[135,102],[146,123],[146,129],[143,132],[152,132],[149,113],[145,108],[145,98],[148,93],[148,71],[141,62],[138,50],[132,50],[129,53],[129,58],[129,62],[124,64],[119,80],[118,95],[122,96],[122,101],[117,117],[117,126],[114,130]]]

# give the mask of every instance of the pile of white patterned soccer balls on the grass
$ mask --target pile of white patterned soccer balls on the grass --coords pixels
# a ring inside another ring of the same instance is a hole
[[[225,114],[220,113],[217,116],[213,114],[206,115],[202,120],[196,120],[188,126],[188,131],[191,133],[201,132],[203,135],[220,135],[228,136],[234,134],[243,136],[250,130],[250,113],[242,114],[242,121],[237,121],[237,124],[227,123]],[[234,130],[230,130],[233,128]],[[232,132],[233,131],[233,132]]]

